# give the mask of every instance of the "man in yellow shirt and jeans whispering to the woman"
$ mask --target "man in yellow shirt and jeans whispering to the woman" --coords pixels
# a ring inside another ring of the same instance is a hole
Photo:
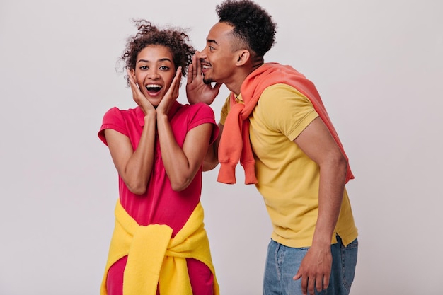
[[[219,22],[190,66],[188,100],[210,104],[222,83],[231,91],[204,168],[220,163],[218,181],[235,183],[241,161],[246,183],[263,195],[273,226],[263,294],[349,294],[358,244],[345,183],[353,175],[321,98],[292,67],[264,62],[276,28],[267,11],[249,0],[216,10]]]

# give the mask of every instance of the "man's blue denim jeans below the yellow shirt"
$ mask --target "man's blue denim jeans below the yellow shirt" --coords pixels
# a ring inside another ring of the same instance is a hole
[[[337,243],[330,245],[333,264],[329,287],[318,295],[347,295],[354,280],[357,264],[358,241],[345,247],[337,236]],[[267,247],[263,295],[302,295],[301,279],[292,279],[299,270],[309,248],[290,248],[275,241]]]

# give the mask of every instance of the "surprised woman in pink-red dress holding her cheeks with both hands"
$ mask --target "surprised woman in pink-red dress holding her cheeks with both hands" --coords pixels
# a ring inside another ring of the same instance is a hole
[[[208,105],[176,101],[195,50],[183,30],[137,28],[122,55],[137,108],[111,108],[98,132],[120,192],[101,294],[219,294],[200,204],[218,129]]]

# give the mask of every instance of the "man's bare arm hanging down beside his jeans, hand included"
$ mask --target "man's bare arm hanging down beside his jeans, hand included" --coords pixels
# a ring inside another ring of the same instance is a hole
[[[337,224],[345,188],[347,161],[328,128],[317,117],[294,142],[320,168],[318,217],[311,248],[294,279],[301,278],[303,294],[328,288],[332,255],[330,242]]]

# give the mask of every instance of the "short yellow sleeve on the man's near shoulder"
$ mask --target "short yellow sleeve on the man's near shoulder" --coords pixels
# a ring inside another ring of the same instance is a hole
[[[318,117],[311,100],[286,84],[266,88],[258,103],[263,113],[257,115],[270,129],[281,132],[290,141],[294,141]]]

